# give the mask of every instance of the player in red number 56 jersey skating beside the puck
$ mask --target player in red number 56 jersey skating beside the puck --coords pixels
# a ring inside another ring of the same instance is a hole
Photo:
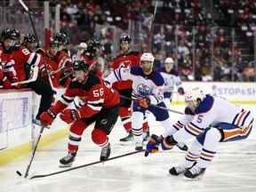
[[[75,79],[56,104],[41,115],[44,125],[52,124],[54,118],[60,118],[70,126],[68,155],[60,159],[60,166],[70,166],[75,160],[81,136],[90,124],[96,122],[92,131],[92,141],[101,148],[100,161],[110,156],[108,134],[118,117],[119,95],[104,81],[90,72],[90,66],[84,60],[74,62]],[[78,97],[76,109],[67,108]],[[66,109],[65,109],[66,108]]]

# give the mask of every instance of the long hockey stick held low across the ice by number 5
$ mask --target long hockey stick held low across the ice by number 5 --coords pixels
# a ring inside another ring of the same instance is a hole
[[[120,156],[113,156],[113,157],[108,158],[106,161],[103,161],[103,162],[111,161],[111,160],[114,160],[114,159],[117,159],[117,158],[121,158],[121,157],[124,157],[124,156],[132,156],[132,155],[134,155],[134,154],[137,154],[137,153],[140,153],[140,152],[144,152],[144,151],[145,151],[145,149],[140,150],[140,151],[133,151],[133,152],[126,153],[126,154],[120,155]],[[49,173],[49,174],[34,175],[34,176],[32,176],[32,177],[30,178],[30,180],[36,179],[36,178],[49,177],[49,176],[52,176],[52,175],[60,174],[60,173],[62,173],[62,172],[69,172],[69,171],[73,171],[73,170],[76,170],[76,169],[80,169],[80,168],[83,168],[83,167],[87,167],[87,166],[90,166],[90,165],[93,165],[93,164],[100,164],[100,163],[102,163],[102,161],[92,162],[92,163],[90,163],[90,164],[79,165],[79,166],[72,167],[72,168],[69,168],[69,169],[66,169],[66,170],[62,170],[62,171],[60,171],[60,172],[52,172],[52,173]]]

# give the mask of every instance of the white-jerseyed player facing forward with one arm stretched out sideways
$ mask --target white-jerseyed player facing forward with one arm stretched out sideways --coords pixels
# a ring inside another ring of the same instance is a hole
[[[134,135],[136,150],[142,149],[141,127],[146,110],[156,116],[156,121],[161,122],[164,128],[171,124],[167,110],[150,105],[154,104],[166,108],[161,91],[164,86],[164,78],[158,71],[153,70],[154,60],[152,53],[145,52],[140,57],[140,67],[125,68],[121,66],[105,78],[109,84],[120,80],[132,80],[132,134]]]

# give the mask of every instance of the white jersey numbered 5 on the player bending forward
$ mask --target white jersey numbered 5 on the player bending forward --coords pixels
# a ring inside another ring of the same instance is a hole
[[[253,116],[250,110],[240,108],[223,98],[206,95],[206,98],[196,108],[195,113],[192,113],[189,108],[185,108],[185,115],[178,122],[172,124],[172,129],[180,130],[184,127],[187,132],[197,136],[210,125],[226,123],[243,128],[248,126],[252,120]],[[163,136],[168,136],[168,131],[164,132]]]

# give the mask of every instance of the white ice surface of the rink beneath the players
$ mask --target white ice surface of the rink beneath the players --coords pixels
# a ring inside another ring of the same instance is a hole
[[[174,108],[174,107],[173,107]],[[182,111],[182,107],[177,107]],[[255,114],[255,108],[252,108]],[[172,115],[175,121],[180,115]],[[161,133],[163,128],[150,117],[151,133]],[[255,125],[254,125],[255,128]],[[73,166],[99,161],[100,148],[92,143],[92,128],[84,132]],[[125,132],[120,122],[110,134],[112,145],[111,156],[119,156],[134,151],[132,143],[120,145],[120,137]],[[44,137],[44,135],[43,135]],[[57,140],[51,146],[38,150],[31,167],[30,174],[57,172],[59,159],[66,155],[67,138]],[[141,191],[173,191],[173,192],[255,192],[256,191],[256,133],[247,140],[220,143],[217,155],[208,167],[202,180],[185,180],[182,176],[169,175],[172,165],[183,163],[185,153],[174,148],[170,151],[144,157],[143,153],[124,156],[104,164],[95,164],[75,171],[42,179],[28,180],[19,177],[28,164],[28,157],[0,168],[1,192],[141,192]]]

